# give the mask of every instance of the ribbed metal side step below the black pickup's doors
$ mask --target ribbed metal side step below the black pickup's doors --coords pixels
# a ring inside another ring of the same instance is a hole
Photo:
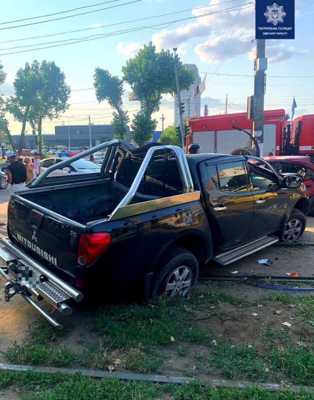
[[[264,247],[268,247],[271,244],[276,243],[278,240],[279,239],[275,236],[263,236],[233,250],[216,255],[213,260],[220,265],[228,265],[231,264],[231,262],[246,257],[246,255],[253,254]]]

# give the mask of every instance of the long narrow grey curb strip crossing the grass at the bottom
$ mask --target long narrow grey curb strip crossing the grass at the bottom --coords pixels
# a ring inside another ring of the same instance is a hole
[[[95,369],[81,369],[81,368],[55,368],[49,366],[36,366],[36,365],[16,365],[16,364],[1,364],[0,370],[10,370],[10,371],[37,371],[37,372],[63,372],[63,373],[75,373],[80,372],[84,376],[90,376],[93,378],[109,378],[109,377],[117,377],[121,380],[146,380],[149,382],[155,383],[189,383],[195,378],[189,378],[184,376],[165,376],[165,375],[150,375],[146,373],[136,373],[136,372],[107,372],[100,371]],[[314,391],[313,386],[296,386],[296,385],[280,385],[277,383],[256,383],[256,382],[241,382],[236,380],[225,380],[225,379],[213,379],[207,378],[200,380],[202,385],[210,385],[210,386],[227,386],[227,387],[237,387],[244,388],[247,386],[257,386],[261,389],[270,389],[270,390],[291,390],[293,392],[299,392],[301,389],[306,392]]]

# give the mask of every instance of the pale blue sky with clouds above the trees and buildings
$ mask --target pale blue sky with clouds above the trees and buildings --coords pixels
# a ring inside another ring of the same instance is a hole
[[[89,89],[93,87],[94,68],[98,66],[108,69],[114,75],[121,76],[121,67],[125,61],[133,57],[141,46],[152,40],[157,49],[178,47],[182,62],[196,64],[201,78],[207,72],[206,90],[201,97],[201,113],[204,104],[208,104],[209,114],[223,113],[226,93],[228,93],[228,112],[246,110],[246,98],[253,94],[255,42],[251,41],[254,39],[255,21],[252,2],[249,0],[138,0],[120,5],[130,1],[134,0],[116,0],[106,3],[101,0],[68,0],[66,2],[2,0],[0,62],[7,73],[7,80],[1,87],[3,94],[9,95],[13,90],[12,82],[16,70],[25,62],[30,63],[34,59],[54,60],[64,71],[66,82],[71,87],[70,108],[59,120],[45,121],[43,131],[52,133],[54,125],[61,121],[65,124],[68,121],[70,124],[87,123],[87,114],[90,114],[91,121],[95,124],[110,123],[112,110],[106,102],[98,104],[94,90]],[[285,1],[288,0],[276,2],[284,6]],[[96,3],[103,4],[53,16],[3,23]],[[272,4],[271,0],[270,3]],[[114,8],[99,10],[112,6]],[[89,12],[94,10],[98,11]],[[186,11],[177,13],[181,10]],[[89,13],[8,28],[81,12]],[[210,12],[214,13],[203,15]],[[158,16],[170,13],[173,14]],[[314,2],[312,0],[295,0],[295,39],[266,40],[268,69],[265,109],[284,108],[286,112],[290,112],[292,98],[295,96],[297,103],[295,116],[314,113],[313,15]],[[134,21],[140,18],[149,19]],[[175,22],[178,19],[185,20]],[[100,25],[106,26],[100,27]],[[78,29],[86,30],[56,34]],[[132,29],[140,30],[129,31]],[[42,37],[44,35],[53,36]],[[99,35],[106,35],[106,37],[95,39]],[[30,38],[34,36],[39,37]],[[80,39],[86,41],[56,46]],[[36,46],[29,45],[54,47],[34,50]],[[29,49],[31,51],[21,52]],[[128,91],[130,88],[125,85],[123,106],[128,109],[132,118],[132,114],[139,110],[139,103],[127,100]],[[164,126],[172,124],[173,99],[170,95],[163,96],[160,111],[153,115],[158,120],[157,129],[161,129],[162,113],[165,116]],[[10,115],[8,119],[11,132],[18,133],[21,124],[14,122]],[[30,132],[29,126],[27,129]]]

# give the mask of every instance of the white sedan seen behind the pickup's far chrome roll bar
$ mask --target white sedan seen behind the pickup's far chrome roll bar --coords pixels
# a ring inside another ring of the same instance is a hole
[[[53,157],[46,158],[40,161],[40,170],[44,171],[49,166],[54,165],[58,162],[64,161],[64,158],[61,157]],[[71,162],[68,166],[61,167],[59,169],[55,169],[50,172],[47,176],[60,176],[69,173],[92,173],[92,172],[100,172],[100,165],[88,161],[88,159],[78,159],[77,161]]]

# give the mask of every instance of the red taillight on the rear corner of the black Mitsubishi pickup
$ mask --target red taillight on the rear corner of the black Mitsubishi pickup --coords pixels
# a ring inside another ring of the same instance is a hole
[[[79,237],[76,262],[88,265],[99,257],[111,242],[109,233],[83,233]]]

